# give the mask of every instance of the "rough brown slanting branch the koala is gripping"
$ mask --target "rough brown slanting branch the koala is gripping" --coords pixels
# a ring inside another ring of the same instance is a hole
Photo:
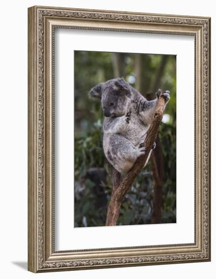
[[[132,169],[127,172],[127,175],[121,182],[120,186],[118,186],[119,181],[120,181],[120,176],[118,175],[119,172],[118,173],[116,171],[114,172],[115,183],[117,182],[118,184],[116,184],[113,187],[113,191],[112,191],[112,194],[110,197],[110,202],[109,202],[109,205],[107,208],[106,226],[115,226],[116,225],[123,198],[124,198],[126,192],[131,188],[132,183],[134,182],[138,173],[142,170],[142,168],[145,165],[149,152],[151,151],[151,148],[156,140],[158,128],[159,128],[159,125],[160,125],[160,122],[161,122],[162,116],[163,116],[164,105],[165,105],[165,100],[161,96],[161,91],[160,91],[160,96],[158,98],[155,115],[154,115],[153,121],[150,125],[150,128],[146,135],[146,139],[143,144],[146,147],[146,153],[145,153],[145,155],[140,156],[136,160]]]

